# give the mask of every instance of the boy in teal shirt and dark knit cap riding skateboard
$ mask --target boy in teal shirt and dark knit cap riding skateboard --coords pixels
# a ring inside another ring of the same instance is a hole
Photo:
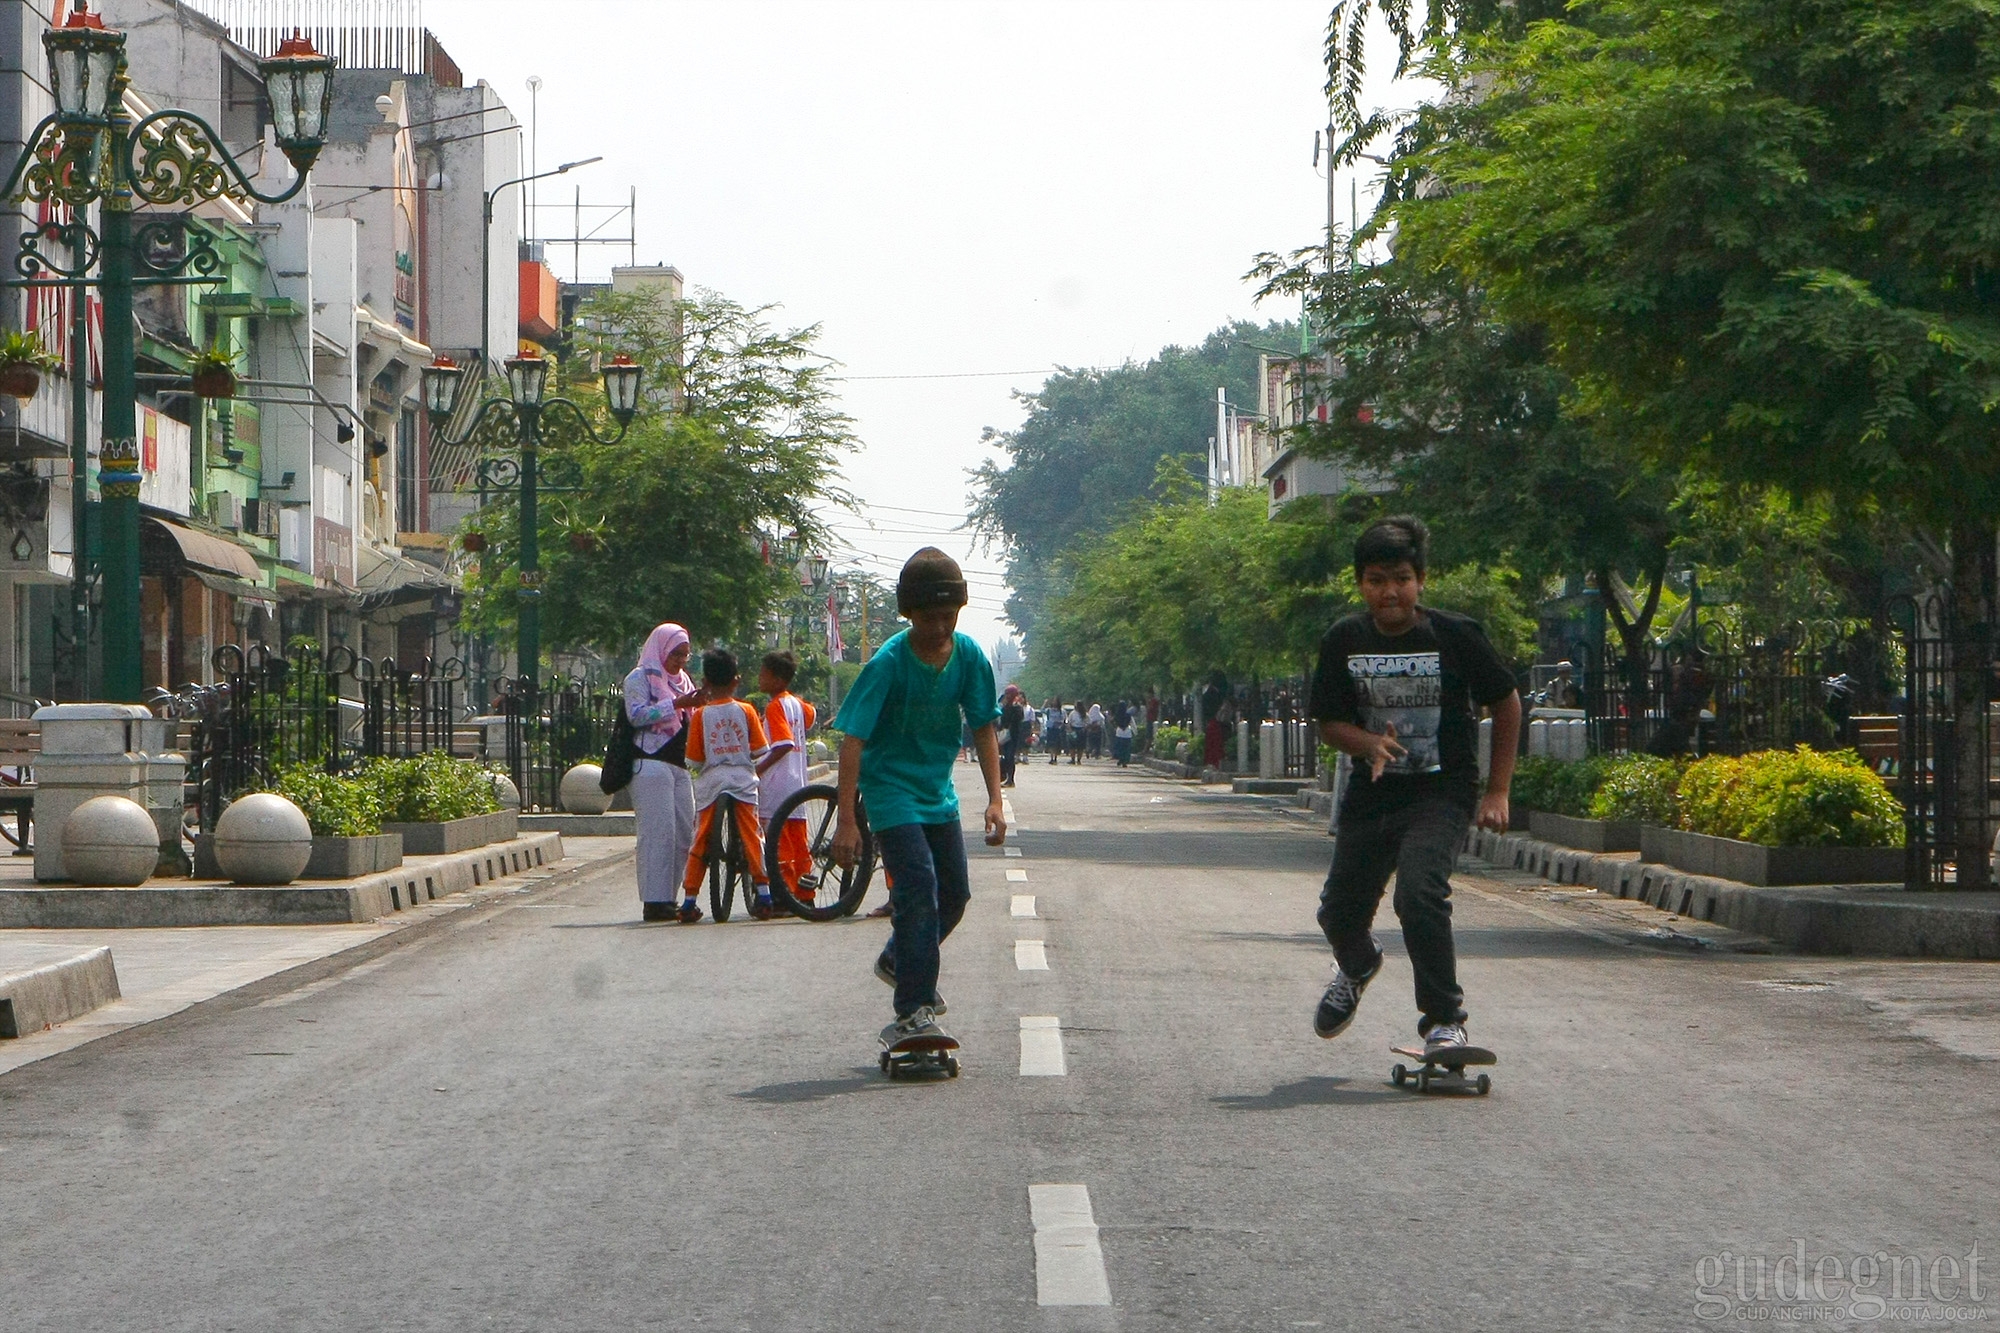
[[[896,610],[910,628],[868,658],[834,719],[844,737],[834,861],[850,867],[860,859],[858,791],[890,881],[894,933],[876,961],[876,975],[896,987],[896,1021],[882,1029],[884,1047],[944,1037],[938,947],[972,899],[952,789],[960,727],[972,729],[986,779],[986,845],[1006,841],[994,669],[980,644],[958,632],[964,604],[966,578],[952,556],[936,546],[910,556],[896,578]]]

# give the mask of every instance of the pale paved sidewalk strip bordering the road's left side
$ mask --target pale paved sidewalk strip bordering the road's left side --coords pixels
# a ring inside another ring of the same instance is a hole
[[[0,1075],[44,1061],[130,1027],[156,1023],[192,1005],[354,951],[420,943],[480,909],[502,909],[520,895],[580,879],[630,859],[632,839],[564,839],[562,861],[480,889],[404,909],[358,925],[230,925],[178,929],[0,929],[0,975],[50,957],[108,945],[122,999],[58,1027],[0,1041]],[[636,907],[634,907],[636,913]],[[360,967],[368,963],[362,961]]]

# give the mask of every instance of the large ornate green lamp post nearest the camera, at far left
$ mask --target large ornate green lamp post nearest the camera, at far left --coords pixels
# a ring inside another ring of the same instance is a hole
[[[114,703],[140,697],[140,576],[138,576],[138,404],[134,366],[134,286],[188,286],[220,282],[220,256],[206,234],[188,226],[188,214],[168,214],[134,224],[140,204],[192,208],[216,198],[254,198],[282,204],[306,188],[334,100],[334,60],[312,48],[296,30],[260,64],[272,106],[278,148],[296,172],[282,194],[264,194],[230,156],[222,136],[200,116],[170,108],[136,124],[124,108],[126,34],[106,28],[86,0],[78,0],[60,28],[42,34],[48,82],[56,112],[28,136],[0,196],[64,204],[70,222],[46,222],[22,238],[14,258],[18,280],[6,286],[96,286],[104,304],[104,444],[98,490],[104,496],[104,695]],[[100,206],[98,228],[86,212]],[[60,260],[40,246],[68,248]],[[92,264],[96,278],[90,276]],[[84,474],[72,476],[82,504]],[[86,552],[78,542],[78,572]],[[82,616],[78,616],[82,620]],[[76,644],[88,658],[88,642]]]

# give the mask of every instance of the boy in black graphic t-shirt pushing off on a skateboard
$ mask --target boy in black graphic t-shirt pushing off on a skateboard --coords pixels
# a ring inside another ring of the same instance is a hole
[[[1508,827],[1520,695],[1478,620],[1418,604],[1428,546],[1420,518],[1382,518],[1362,532],[1354,580],[1368,610],[1320,640],[1312,717],[1328,745],[1354,757],[1354,779],[1320,891],[1334,979],[1312,1031],[1338,1037],[1354,1023],[1362,991],[1382,969],[1370,927],[1394,873],[1422,1015],[1416,1031],[1434,1053],[1466,1045],[1450,877],[1474,817],[1488,829]],[[1484,797],[1474,707],[1494,717]]]

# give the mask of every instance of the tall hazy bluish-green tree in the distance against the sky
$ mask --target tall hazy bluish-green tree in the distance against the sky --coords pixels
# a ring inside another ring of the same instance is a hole
[[[1258,352],[1294,346],[1296,324],[1238,320],[1200,346],[1168,346],[1144,364],[1052,374],[1036,392],[1018,394],[1028,418],[1016,430],[986,430],[1008,464],[974,468],[972,520],[1006,548],[1008,618],[1030,654],[1062,550],[1154,498],[1160,458],[1206,476],[1216,388],[1238,404],[1254,402]]]

